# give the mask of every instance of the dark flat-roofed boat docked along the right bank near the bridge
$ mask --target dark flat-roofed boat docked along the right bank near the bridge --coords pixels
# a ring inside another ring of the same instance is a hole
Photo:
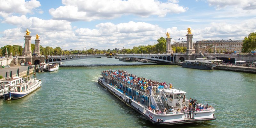
[[[182,67],[213,70],[213,67],[216,67],[216,65],[212,64],[211,60],[184,60]]]

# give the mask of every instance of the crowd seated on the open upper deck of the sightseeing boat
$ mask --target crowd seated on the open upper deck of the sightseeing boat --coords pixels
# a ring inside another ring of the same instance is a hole
[[[102,71],[102,75],[108,76],[111,79],[116,79],[123,81],[125,84],[129,84],[132,87],[145,92],[146,94],[152,95],[156,93],[156,89],[163,88],[172,88],[172,84],[166,84],[165,82],[157,82],[143,77],[137,77],[136,75],[129,74],[127,71],[123,70],[106,70]],[[120,88],[121,89],[121,88]]]

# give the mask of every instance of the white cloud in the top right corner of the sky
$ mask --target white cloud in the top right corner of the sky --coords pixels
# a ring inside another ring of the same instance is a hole
[[[215,6],[216,10],[221,10],[227,6],[233,6],[242,10],[255,10],[256,1],[253,0],[207,0],[210,6]]]

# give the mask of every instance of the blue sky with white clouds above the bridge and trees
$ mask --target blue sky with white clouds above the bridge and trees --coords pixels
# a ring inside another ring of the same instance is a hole
[[[173,42],[243,40],[256,32],[255,0],[0,0],[0,47],[22,45],[28,28],[43,47],[99,50]],[[180,40],[179,40],[180,39]]]

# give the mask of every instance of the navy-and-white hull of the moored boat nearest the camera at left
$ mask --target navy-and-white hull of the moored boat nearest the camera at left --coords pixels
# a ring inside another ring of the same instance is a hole
[[[27,91],[24,91],[24,92],[5,92],[3,98],[4,98],[4,100],[20,99],[20,98],[23,98],[23,97],[27,96],[31,92],[34,92],[35,90],[37,90],[41,86],[42,86],[42,82],[39,81],[33,88],[31,88]]]

